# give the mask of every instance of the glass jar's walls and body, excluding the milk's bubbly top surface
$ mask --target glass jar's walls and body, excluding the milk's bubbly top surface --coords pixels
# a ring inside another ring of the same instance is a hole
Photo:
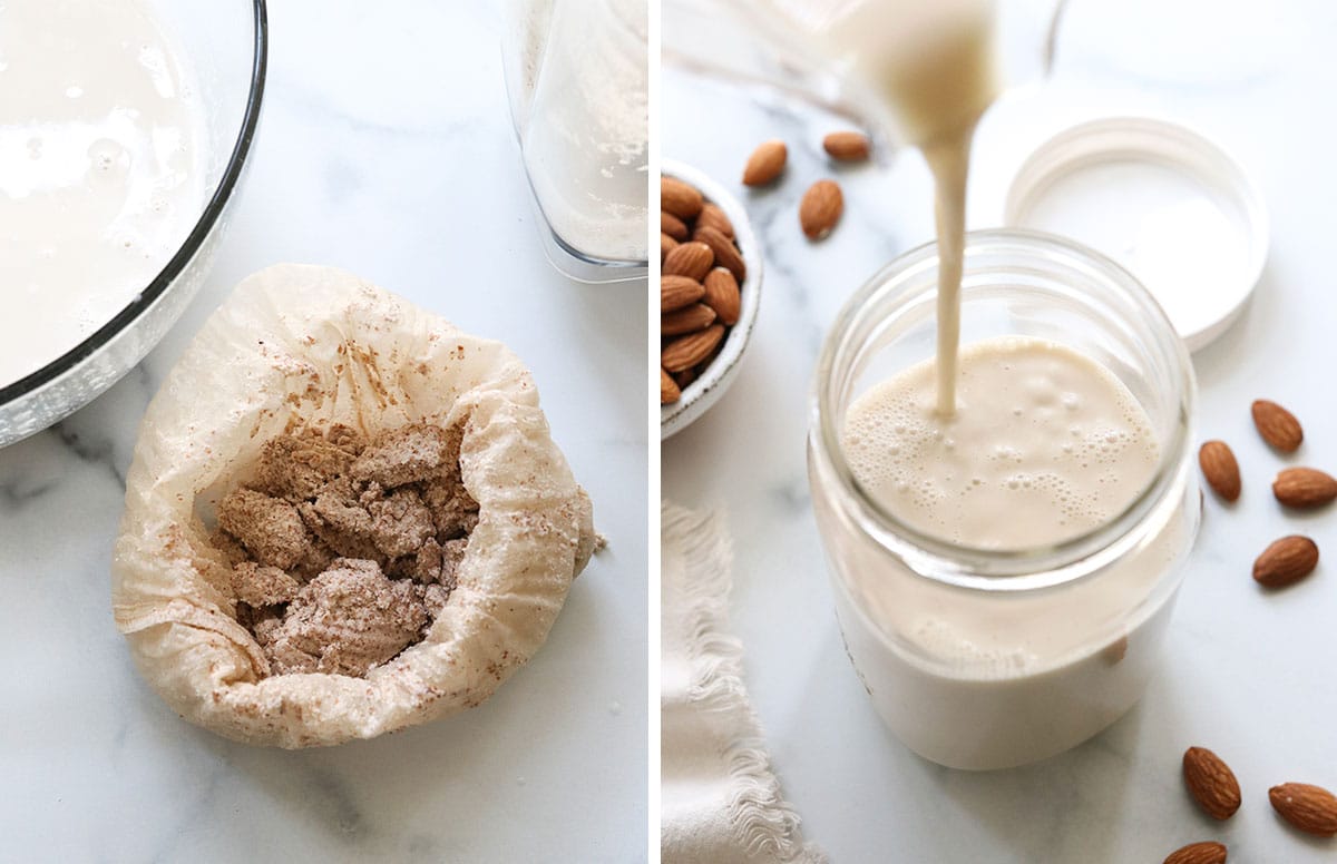
[[[1099,362],[1159,442],[1150,485],[1112,521],[1009,552],[923,534],[878,506],[841,447],[845,411],[933,355],[937,251],[921,246],[845,304],[822,347],[809,482],[845,646],[877,712],[953,768],[1021,765],[1104,729],[1142,696],[1198,530],[1195,385],[1183,343],[1127,271],[1028,231],[967,238],[961,342],[1020,335]]]

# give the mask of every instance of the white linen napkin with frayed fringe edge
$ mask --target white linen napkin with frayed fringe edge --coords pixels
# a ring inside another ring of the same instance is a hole
[[[727,633],[733,585],[722,514],[664,502],[660,828],[663,864],[821,864],[781,797]]]

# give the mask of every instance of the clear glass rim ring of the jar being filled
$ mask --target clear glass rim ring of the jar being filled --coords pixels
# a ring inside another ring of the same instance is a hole
[[[937,582],[987,592],[1029,592],[1067,585],[1096,573],[1140,542],[1142,525],[1159,526],[1179,506],[1175,493],[1189,470],[1195,381],[1183,341],[1147,288],[1106,255],[1075,240],[1043,231],[992,228],[969,231],[965,238],[965,272],[971,259],[984,252],[1008,251],[1023,256],[1050,256],[1098,276],[1132,300],[1140,323],[1148,327],[1161,354],[1174,365],[1177,417],[1169,441],[1163,441],[1152,479],[1112,519],[1058,544],[1021,549],[988,549],[935,537],[897,518],[854,478],[838,434],[841,411],[834,405],[832,378],[849,353],[848,337],[866,319],[877,299],[905,278],[937,271],[937,243],[917,246],[874,272],[837,314],[822,341],[812,391],[809,446],[838,482],[836,505],[845,510],[874,542],[900,557],[910,572]],[[935,279],[936,286],[936,279]],[[904,287],[904,286],[901,286]],[[936,291],[936,287],[933,288]],[[896,300],[904,306],[919,292]]]

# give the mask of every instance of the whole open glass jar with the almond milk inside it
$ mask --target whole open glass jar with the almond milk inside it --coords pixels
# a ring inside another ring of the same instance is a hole
[[[1067,750],[1146,689],[1201,501],[1186,350],[1127,271],[973,232],[956,409],[936,399],[937,250],[829,333],[809,434],[836,612],[910,749],[995,769]]]

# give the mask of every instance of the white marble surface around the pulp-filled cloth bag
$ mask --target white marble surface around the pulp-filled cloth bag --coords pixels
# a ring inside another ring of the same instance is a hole
[[[543,258],[489,5],[273,4],[259,142],[201,296],[111,391],[0,451],[0,859],[644,859],[644,291]],[[488,704],[310,752],[179,720],[108,597],[148,398],[230,286],[279,260],[346,267],[505,341],[610,541]]]

